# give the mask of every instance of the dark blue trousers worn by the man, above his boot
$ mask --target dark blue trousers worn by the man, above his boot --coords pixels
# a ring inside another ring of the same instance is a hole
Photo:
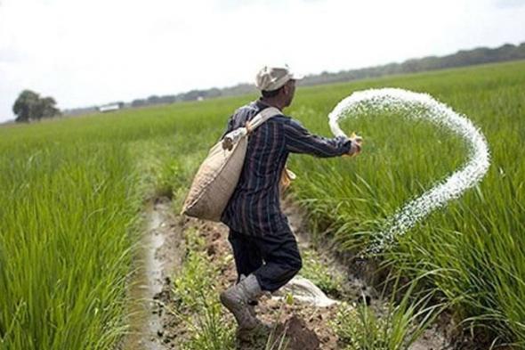
[[[254,273],[261,289],[275,291],[303,267],[294,233],[290,230],[251,236],[230,229],[231,248],[238,278]]]

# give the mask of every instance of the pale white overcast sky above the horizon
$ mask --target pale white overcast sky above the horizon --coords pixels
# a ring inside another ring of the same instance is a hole
[[[61,109],[525,42],[525,0],[0,0],[0,122]]]

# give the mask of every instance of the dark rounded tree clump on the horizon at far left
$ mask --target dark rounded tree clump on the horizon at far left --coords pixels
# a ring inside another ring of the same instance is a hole
[[[39,94],[31,90],[24,90],[12,105],[12,111],[17,116],[16,122],[28,123],[31,120],[60,115],[61,111],[55,106],[56,101],[52,97],[40,98]]]

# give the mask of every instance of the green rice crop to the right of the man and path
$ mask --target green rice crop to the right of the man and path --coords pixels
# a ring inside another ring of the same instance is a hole
[[[523,62],[436,72],[346,85],[344,94],[394,86],[432,94],[471,118],[486,135],[491,165],[460,199],[399,238],[382,259],[407,277],[427,274],[458,321],[489,328],[501,342],[525,344],[525,65]],[[303,92],[297,102],[307,126],[327,130],[327,106],[343,85]],[[298,111],[299,111],[298,110]],[[454,134],[403,116],[370,115],[343,121],[364,137],[356,159],[295,158],[295,198],[311,213],[318,234],[359,252],[388,216],[466,161]],[[465,326],[467,324],[464,324]]]

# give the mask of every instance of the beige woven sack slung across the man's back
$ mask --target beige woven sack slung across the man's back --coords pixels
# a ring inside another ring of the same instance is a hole
[[[191,183],[182,214],[221,221],[222,212],[235,191],[244,165],[248,135],[266,120],[279,114],[281,112],[276,108],[266,108],[246,127],[239,127],[215,143]]]

